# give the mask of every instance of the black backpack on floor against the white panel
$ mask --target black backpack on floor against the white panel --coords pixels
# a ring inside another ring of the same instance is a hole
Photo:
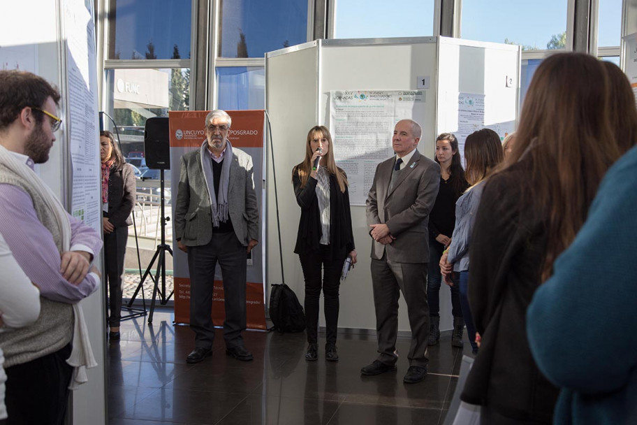
[[[280,332],[305,331],[305,313],[296,294],[286,284],[273,284],[270,291],[270,320]]]

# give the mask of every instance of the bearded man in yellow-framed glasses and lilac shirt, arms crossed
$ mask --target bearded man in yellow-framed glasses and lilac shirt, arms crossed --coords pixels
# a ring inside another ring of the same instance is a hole
[[[49,159],[56,140],[59,99],[37,75],[0,71],[0,233],[41,294],[35,324],[0,331],[8,424],[64,422],[73,375],[66,362],[73,348],[73,304],[100,282],[91,261],[101,250],[101,236],[71,217],[33,171]]]

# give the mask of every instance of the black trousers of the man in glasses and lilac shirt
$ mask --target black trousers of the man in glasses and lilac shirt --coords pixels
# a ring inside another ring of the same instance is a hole
[[[73,368],[71,344],[46,356],[6,368],[7,425],[64,423]]]

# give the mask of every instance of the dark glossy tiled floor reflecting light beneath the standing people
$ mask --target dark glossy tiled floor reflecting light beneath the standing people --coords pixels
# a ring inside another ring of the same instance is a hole
[[[397,372],[360,375],[374,360],[376,340],[342,336],[340,360],[305,361],[305,333],[244,333],[254,361],[225,354],[221,330],[214,353],[196,365],[186,363],[194,337],[187,326],[173,326],[171,310],[122,322],[122,340],[108,345],[108,410],[111,425],[157,424],[442,424],[453,396],[463,350],[450,336],[430,347],[429,375],[404,384],[404,353]],[[466,336],[465,336],[466,338]],[[469,353],[468,343],[464,353]]]

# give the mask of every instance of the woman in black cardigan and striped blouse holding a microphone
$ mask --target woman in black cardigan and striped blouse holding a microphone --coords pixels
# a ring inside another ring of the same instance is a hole
[[[314,166],[316,159],[318,166]],[[346,257],[356,264],[351,226],[347,176],[336,166],[330,131],[312,127],[307,134],[305,160],[292,170],[292,184],[301,218],[294,252],[299,255],[305,278],[307,353],[318,357],[318,298],[323,288],[325,359],[337,361],[336,336],[339,284]],[[321,279],[321,268],[323,277]]]

